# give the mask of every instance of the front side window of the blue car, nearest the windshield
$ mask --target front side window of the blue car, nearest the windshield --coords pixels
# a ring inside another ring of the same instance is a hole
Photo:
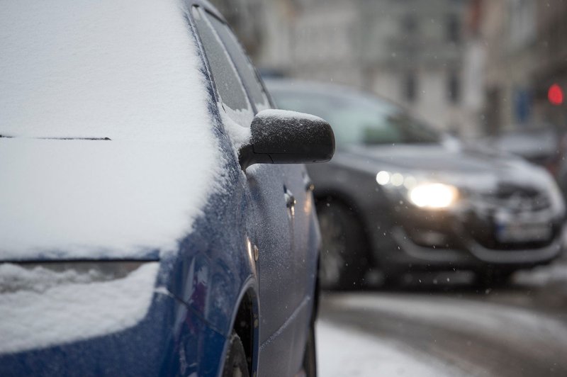
[[[252,109],[234,64],[215,30],[197,7],[193,8],[193,20],[201,37],[210,71],[225,110],[237,123],[249,125],[249,120],[252,120]],[[247,113],[250,113],[249,117],[242,117]],[[249,120],[243,118],[249,118]]]

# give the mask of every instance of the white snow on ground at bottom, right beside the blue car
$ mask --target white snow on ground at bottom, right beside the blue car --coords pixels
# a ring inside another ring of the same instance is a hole
[[[417,359],[398,345],[325,320],[317,323],[317,357],[321,377],[453,375],[447,367]]]

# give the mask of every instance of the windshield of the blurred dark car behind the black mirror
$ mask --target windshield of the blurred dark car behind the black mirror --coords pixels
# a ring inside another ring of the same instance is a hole
[[[398,106],[357,94],[335,95],[272,89],[277,105],[327,120],[337,146],[437,143],[439,133]]]

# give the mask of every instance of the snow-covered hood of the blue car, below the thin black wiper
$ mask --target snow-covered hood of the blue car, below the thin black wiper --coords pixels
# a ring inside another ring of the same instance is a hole
[[[1,138],[0,261],[174,252],[218,186],[218,161],[211,140]]]

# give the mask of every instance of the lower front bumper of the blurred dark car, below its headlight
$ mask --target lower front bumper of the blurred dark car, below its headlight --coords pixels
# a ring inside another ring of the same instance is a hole
[[[447,212],[405,210],[393,213],[391,227],[373,232],[374,261],[388,272],[483,271],[489,267],[516,270],[548,264],[563,249],[561,220],[552,222],[552,235],[541,242],[499,244],[490,226],[472,225],[462,216]],[[385,231],[384,231],[385,230]]]

